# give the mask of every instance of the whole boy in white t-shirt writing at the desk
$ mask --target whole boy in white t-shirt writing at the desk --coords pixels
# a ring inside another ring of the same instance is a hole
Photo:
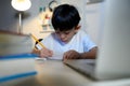
[[[34,51],[34,53],[43,58],[56,54],[63,54],[60,59],[95,58],[96,45],[80,29],[79,22],[80,16],[75,6],[62,4],[55,8],[52,15],[52,26],[55,32],[41,41],[46,48],[37,45],[39,51]]]

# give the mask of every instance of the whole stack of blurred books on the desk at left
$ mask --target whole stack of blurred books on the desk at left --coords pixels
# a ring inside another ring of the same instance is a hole
[[[0,83],[35,75],[35,58],[29,34],[0,31]]]

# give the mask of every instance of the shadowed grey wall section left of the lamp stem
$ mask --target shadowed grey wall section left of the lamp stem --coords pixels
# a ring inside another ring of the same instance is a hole
[[[10,0],[0,0],[0,30],[17,31],[16,11],[11,6]]]

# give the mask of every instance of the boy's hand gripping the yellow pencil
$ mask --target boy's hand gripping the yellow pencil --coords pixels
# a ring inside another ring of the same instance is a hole
[[[47,57],[52,57],[52,55],[53,52],[48,48],[40,49],[40,57],[47,58]]]

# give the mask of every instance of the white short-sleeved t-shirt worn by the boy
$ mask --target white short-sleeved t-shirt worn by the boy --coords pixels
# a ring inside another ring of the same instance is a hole
[[[92,47],[96,46],[90,40],[88,34],[82,30],[79,30],[68,43],[63,43],[61,40],[58,40],[54,32],[46,39],[43,39],[41,43],[43,43],[43,45],[47,48],[53,51],[55,55],[64,54],[69,49],[75,49],[76,52],[84,53],[89,52]],[[39,49],[41,49],[41,46],[39,44],[37,44],[36,46]]]

